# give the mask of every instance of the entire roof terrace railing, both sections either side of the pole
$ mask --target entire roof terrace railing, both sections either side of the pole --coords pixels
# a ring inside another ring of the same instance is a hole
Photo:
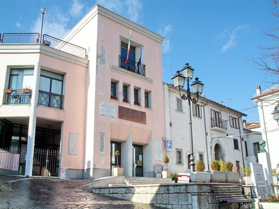
[[[87,59],[86,49],[73,45],[70,42],[43,35],[40,42],[40,33],[0,33],[0,44],[43,44],[74,56]]]

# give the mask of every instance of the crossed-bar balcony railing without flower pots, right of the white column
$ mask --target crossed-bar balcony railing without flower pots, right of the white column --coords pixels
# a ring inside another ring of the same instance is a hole
[[[46,107],[63,109],[64,96],[47,91],[39,91],[38,104]]]

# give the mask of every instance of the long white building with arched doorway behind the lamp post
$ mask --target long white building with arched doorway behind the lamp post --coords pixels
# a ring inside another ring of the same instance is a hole
[[[172,172],[185,172],[190,162],[189,107],[181,100],[179,90],[164,84],[166,140],[172,141],[168,151]],[[183,92],[186,94],[186,91]],[[239,111],[201,97],[191,102],[195,161],[203,160],[209,170],[213,160],[230,161],[234,167],[246,165],[242,116]]]

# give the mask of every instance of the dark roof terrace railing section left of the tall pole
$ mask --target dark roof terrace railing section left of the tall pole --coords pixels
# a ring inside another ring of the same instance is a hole
[[[1,43],[39,43],[40,33],[3,33]]]

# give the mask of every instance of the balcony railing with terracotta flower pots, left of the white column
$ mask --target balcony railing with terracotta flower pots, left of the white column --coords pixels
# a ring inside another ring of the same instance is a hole
[[[24,93],[22,89],[4,90],[4,104],[30,104],[32,93]]]

